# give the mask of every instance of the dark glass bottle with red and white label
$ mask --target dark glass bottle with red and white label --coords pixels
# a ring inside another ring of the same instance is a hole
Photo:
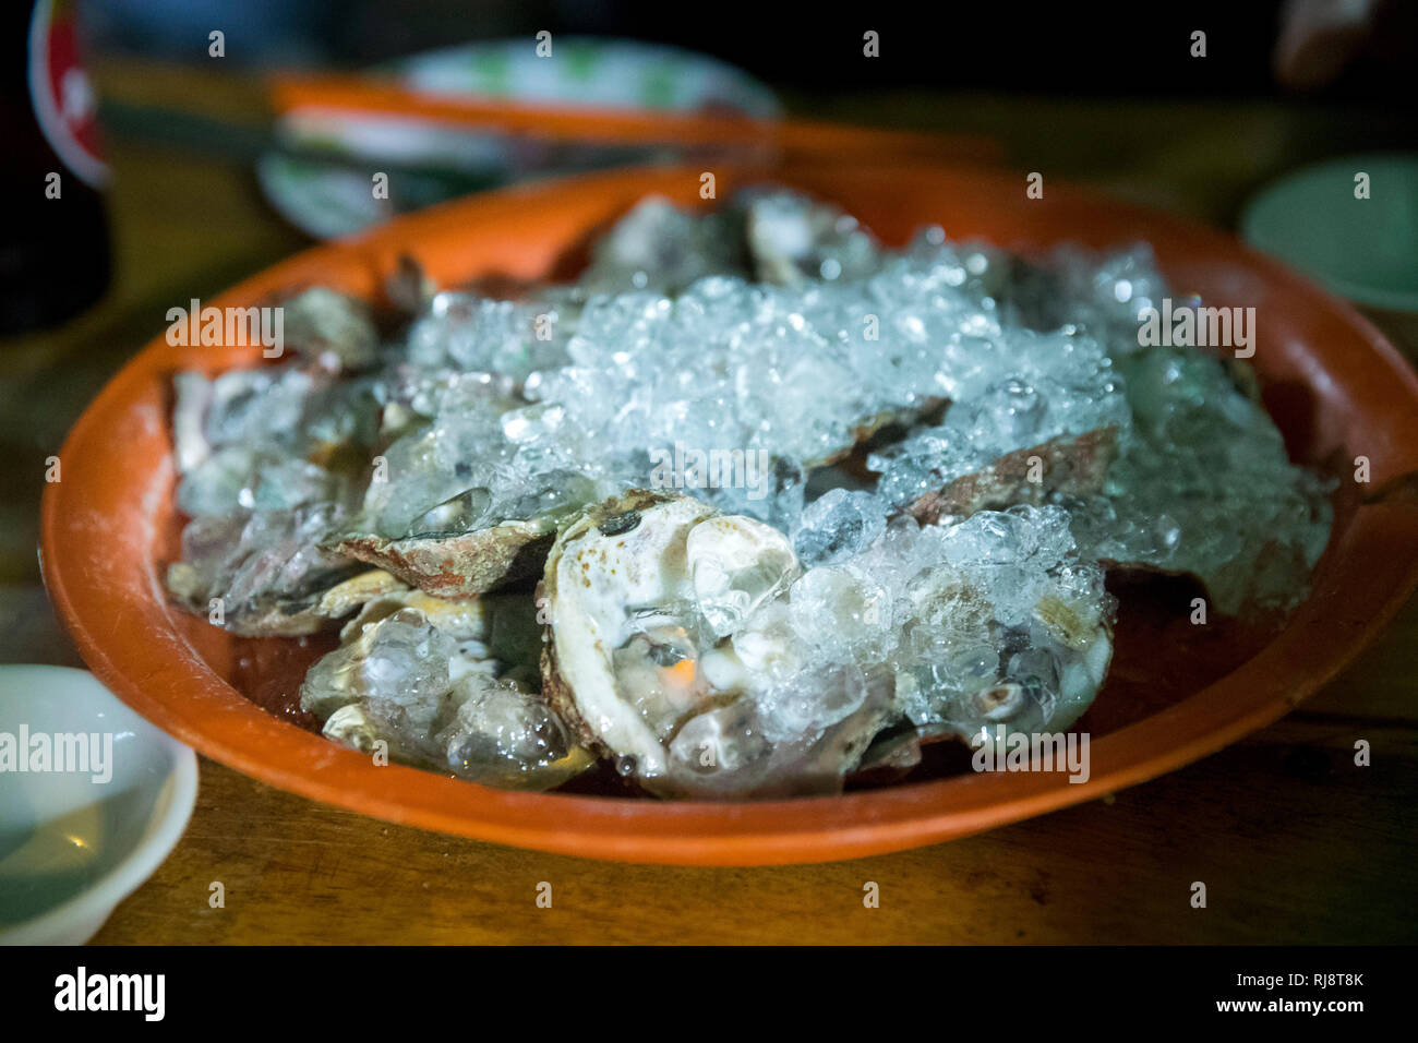
[[[0,16],[0,336],[50,326],[109,284],[108,167],[74,0],[10,0]]]

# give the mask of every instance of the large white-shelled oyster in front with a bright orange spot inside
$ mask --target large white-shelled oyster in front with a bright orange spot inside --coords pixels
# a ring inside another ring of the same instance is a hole
[[[598,504],[546,563],[552,705],[662,796],[839,786],[888,719],[891,677],[825,673],[848,712],[776,727],[774,697],[803,663],[773,609],[797,575],[787,539],[752,518],[654,492]]]

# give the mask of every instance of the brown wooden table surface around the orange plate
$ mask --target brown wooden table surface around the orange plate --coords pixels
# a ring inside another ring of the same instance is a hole
[[[251,128],[264,118],[251,81],[204,70],[109,62],[99,85],[125,104]],[[1268,104],[892,95],[811,109],[993,133],[1022,170],[1218,223],[1278,170],[1404,135],[1378,114]],[[78,322],[0,349],[3,661],[77,663],[34,566],[44,457],[174,301],[208,298],[305,244],[238,156],[138,136],[112,140],[111,156],[113,292]],[[186,836],[96,941],[1412,942],[1415,637],[1418,603],[1302,710],[1184,771],[986,836],[825,866],[662,868],[510,850],[318,805],[203,759]],[[1353,763],[1360,738],[1368,768]],[[1198,880],[1204,910],[1190,904]],[[214,881],[220,910],[207,901]],[[550,910],[536,904],[542,881]],[[879,908],[864,907],[868,881]]]

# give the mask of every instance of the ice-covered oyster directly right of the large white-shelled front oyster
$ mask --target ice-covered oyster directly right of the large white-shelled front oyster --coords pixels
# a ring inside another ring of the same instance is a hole
[[[834,509],[858,517],[845,497]],[[800,657],[888,666],[898,712],[919,729],[1061,731],[1103,683],[1113,602],[1058,507],[946,525],[900,515],[845,561],[818,556],[787,605]]]

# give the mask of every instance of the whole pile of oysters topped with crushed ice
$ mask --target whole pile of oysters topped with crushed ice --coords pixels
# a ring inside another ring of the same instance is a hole
[[[166,582],[337,631],[333,742],[476,783],[838,792],[1076,725],[1106,576],[1283,613],[1330,528],[1244,362],[1144,346],[1150,253],[883,247],[786,189],[649,199],[569,285],[286,295],[285,356],[176,377]]]

